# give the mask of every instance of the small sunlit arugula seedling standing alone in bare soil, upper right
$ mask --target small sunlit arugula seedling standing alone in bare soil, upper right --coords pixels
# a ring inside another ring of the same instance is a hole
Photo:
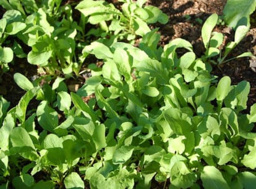
[[[210,63],[221,65],[222,63],[228,62],[236,58],[254,57],[254,55],[251,52],[244,52],[241,55],[237,55],[236,57],[225,60],[229,52],[231,52],[231,50],[233,50],[237,46],[237,44],[239,44],[239,42],[241,42],[242,39],[244,39],[247,32],[249,31],[249,28],[244,25],[238,26],[235,31],[234,41],[229,42],[224,47],[224,52],[222,53],[221,50],[223,49],[221,47],[221,44],[223,44],[224,36],[222,33],[213,31],[217,22],[218,22],[218,15],[213,14],[207,18],[207,20],[205,21],[202,27],[202,39],[206,49],[205,55],[202,57],[202,60],[204,62],[207,62],[209,60]],[[217,62],[215,62],[215,60],[211,60],[212,57],[216,57],[218,55],[219,55],[219,58]]]

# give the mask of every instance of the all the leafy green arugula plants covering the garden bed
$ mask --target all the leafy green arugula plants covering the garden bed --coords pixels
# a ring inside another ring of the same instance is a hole
[[[38,66],[33,81],[14,74],[26,91],[15,107],[0,99],[0,188],[254,188],[250,84],[211,74],[213,63],[253,56],[226,60],[249,31],[251,7],[245,25],[244,15],[232,22],[234,41],[224,47],[213,31],[221,17],[208,17],[197,57],[184,39],[158,45],[149,25],[168,23],[160,9],[118,2],[0,2],[1,74],[16,60]],[[92,76],[70,92],[66,81],[83,71]]]

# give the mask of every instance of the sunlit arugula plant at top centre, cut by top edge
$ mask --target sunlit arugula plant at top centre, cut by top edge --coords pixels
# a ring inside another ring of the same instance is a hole
[[[106,1],[82,1],[75,9],[82,12],[85,22],[100,25],[90,30],[88,34],[100,34],[105,37],[111,33],[116,39],[127,39],[132,42],[135,36],[143,36],[150,31],[149,23],[167,23],[168,16],[154,6],[143,6],[145,0],[123,2],[122,10]]]

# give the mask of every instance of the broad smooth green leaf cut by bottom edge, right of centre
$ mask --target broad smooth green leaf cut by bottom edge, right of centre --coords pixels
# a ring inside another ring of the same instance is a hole
[[[203,172],[201,173],[201,179],[204,188],[209,189],[228,189],[228,183],[224,180],[221,172],[213,166],[203,167]]]

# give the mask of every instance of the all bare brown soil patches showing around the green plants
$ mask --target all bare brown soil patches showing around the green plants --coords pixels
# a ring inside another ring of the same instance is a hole
[[[108,1],[116,2],[116,0]],[[175,38],[187,39],[193,44],[195,54],[200,57],[204,52],[202,39],[200,38],[203,22],[213,13],[222,15],[226,0],[148,0],[147,4],[159,7],[169,16],[169,22],[166,25],[155,24],[151,26],[152,28],[160,28],[160,45],[167,44],[171,39]],[[2,17],[2,14],[0,16]],[[256,20],[256,14],[252,14],[251,17],[252,23],[247,37],[229,54],[229,57],[234,57],[247,51],[256,55],[256,23],[254,21]],[[227,41],[234,39],[234,31],[225,26],[219,25],[215,30],[221,31],[226,35]],[[21,63],[11,66],[11,70],[8,73],[4,73],[2,81],[0,81],[0,95],[4,95],[4,97],[11,102],[12,106],[19,102],[20,97],[24,93],[23,90],[19,89],[14,83],[13,74],[20,72],[30,77],[36,74],[36,66],[22,63],[22,60],[19,60],[19,62]],[[252,104],[256,103],[256,73],[254,68],[251,68],[250,62],[254,63],[250,58],[240,58],[225,63],[221,67],[221,70],[213,66],[213,74],[220,78],[228,75],[231,77],[233,84],[237,84],[242,80],[250,82],[251,90],[249,94],[248,110]]]

